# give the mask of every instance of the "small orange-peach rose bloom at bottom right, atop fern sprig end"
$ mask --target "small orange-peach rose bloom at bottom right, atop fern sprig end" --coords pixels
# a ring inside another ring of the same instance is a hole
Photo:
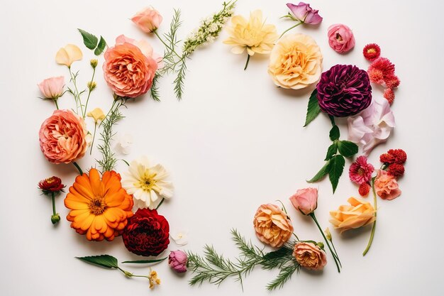
[[[304,268],[322,270],[327,264],[326,252],[314,243],[299,241],[294,244],[293,257]]]

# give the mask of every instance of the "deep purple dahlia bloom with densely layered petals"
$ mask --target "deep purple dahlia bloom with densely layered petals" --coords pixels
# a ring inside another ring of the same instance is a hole
[[[316,89],[321,110],[336,117],[355,115],[372,102],[367,72],[352,65],[335,65],[323,72]]]

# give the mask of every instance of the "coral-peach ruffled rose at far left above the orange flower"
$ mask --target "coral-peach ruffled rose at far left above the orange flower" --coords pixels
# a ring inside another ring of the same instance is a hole
[[[40,126],[40,149],[51,163],[71,163],[88,148],[87,126],[71,110],[55,110]]]

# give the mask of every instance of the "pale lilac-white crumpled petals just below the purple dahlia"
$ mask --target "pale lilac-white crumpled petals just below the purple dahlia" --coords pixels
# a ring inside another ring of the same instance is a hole
[[[348,140],[362,145],[368,156],[374,146],[387,141],[395,122],[387,99],[374,97],[372,104],[356,116],[348,117]]]

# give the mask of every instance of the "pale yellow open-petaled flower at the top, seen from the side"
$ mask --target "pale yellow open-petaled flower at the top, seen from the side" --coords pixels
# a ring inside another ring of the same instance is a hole
[[[266,25],[262,21],[262,11],[256,10],[250,13],[247,21],[243,16],[233,16],[231,27],[227,28],[230,37],[223,41],[231,48],[232,53],[243,53],[245,48],[248,55],[255,53],[270,53],[274,42],[277,40],[277,31],[274,25]]]

